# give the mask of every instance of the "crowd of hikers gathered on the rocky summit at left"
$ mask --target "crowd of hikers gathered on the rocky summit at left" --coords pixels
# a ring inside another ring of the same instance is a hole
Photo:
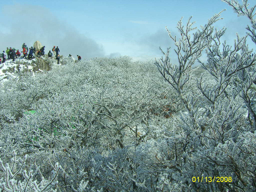
[[[35,58],[35,54],[37,54],[39,57],[44,55],[44,49],[45,46],[43,46],[42,48],[40,48],[40,50],[36,51],[36,48],[34,47],[30,47],[28,49],[28,47],[26,46],[26,43],[22,44],[22,53],[23,53],[23,58],[28,58],[33,59]],[[55,46],[52,48],[52,52],[49,51],[48,52],[48,57],[52,57],[54,56],[56,58],[56,60],[58,60],[58,64],[60,64],[60,49],[58,48],[58,46],[55,48]],[[20,57],[21,53],[19,50],[16,51],[15,48],[8,48],[6,49],[6,52],[3,51],[2,54],[0,54],[0,63],[4,63],[6,61],[6,57],[9,59],[12,59],[12,61],[15,60],[15,58]],[[72,55],[69,54],[69,57],[72,57]],[[81,56],[78,56],[78,61],[81,61]]]

